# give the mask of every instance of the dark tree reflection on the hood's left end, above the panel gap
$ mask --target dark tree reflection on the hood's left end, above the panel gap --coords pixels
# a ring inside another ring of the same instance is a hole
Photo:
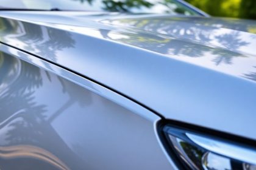
[[[37,55],[47,56],[51,61],[57,61],[56,53],[62,49],[74,47],[75,41],[69,32],[48,27],[38,27],[36,24],[0,18],[3,23],[5,38],[18,39],[24,50],[34,52]],[[0,34],[1,34],[0,32]],[[29,45],[28,45],[29,44]],[[40,48],[38,48],[40,46]],[[46,67],[49,67],[49,64]]]

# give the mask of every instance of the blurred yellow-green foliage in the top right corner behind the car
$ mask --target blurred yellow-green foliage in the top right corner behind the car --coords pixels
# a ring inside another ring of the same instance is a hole
[[[212,16],[256,19],[256,0],[185,0]]]

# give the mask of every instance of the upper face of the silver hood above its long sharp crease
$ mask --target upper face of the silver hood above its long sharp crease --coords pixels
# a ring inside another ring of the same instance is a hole
[[[2,16],[139,47],[256,81],[256,21],[108,12],[5,12]],[[243,62],[240,62],[242,60]]]

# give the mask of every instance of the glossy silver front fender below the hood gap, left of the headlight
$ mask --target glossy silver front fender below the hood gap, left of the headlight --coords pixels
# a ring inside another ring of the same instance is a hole
[[[156,115],[141,117],[88,90],[100,89],[94,83],[79,86],[7,53],[0,53],[1,169],[172,169],[155,137]]]

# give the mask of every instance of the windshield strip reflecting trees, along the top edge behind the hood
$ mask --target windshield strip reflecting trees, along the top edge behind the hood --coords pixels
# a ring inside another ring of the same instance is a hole
[[[0,9],[86,10],[199,15],[176,0],[0,0]]]

